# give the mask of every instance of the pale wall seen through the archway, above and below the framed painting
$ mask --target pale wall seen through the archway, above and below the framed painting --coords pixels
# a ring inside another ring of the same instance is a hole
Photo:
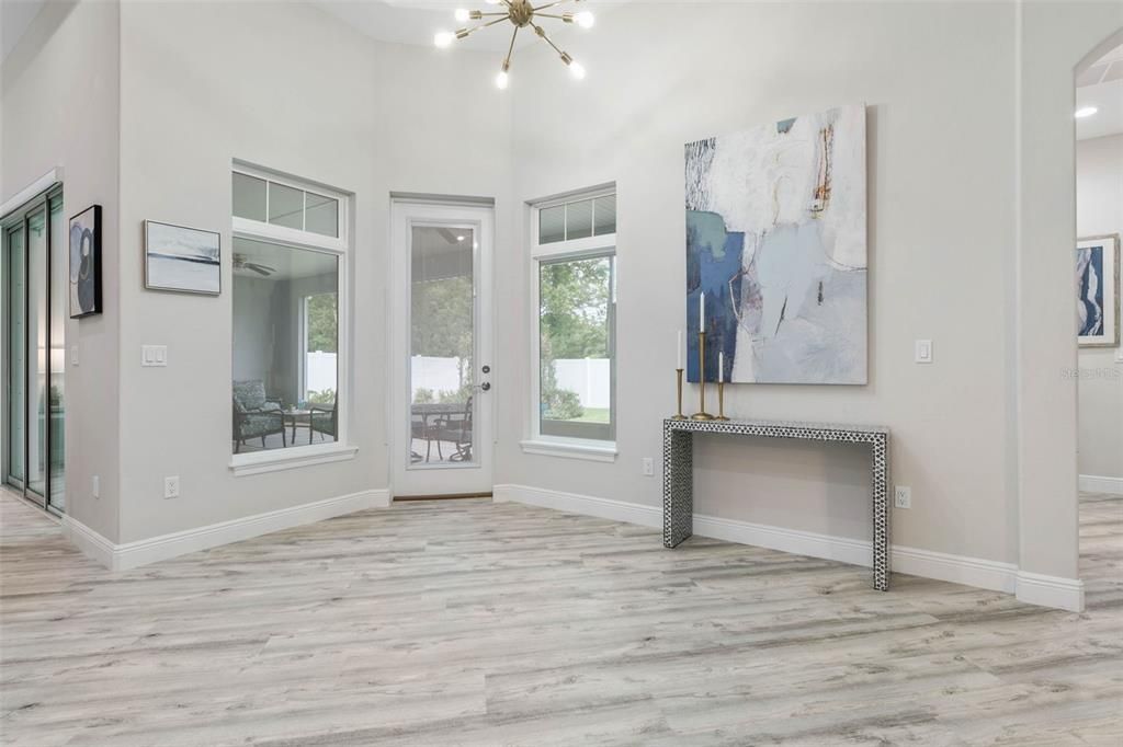
[[[1076,144],[1076,232],[1123,233],[1123,135]],[[1081,348],[1077,388],[1080,474],[1115,478],[1123,485],[1121,353],[1120,348]]]

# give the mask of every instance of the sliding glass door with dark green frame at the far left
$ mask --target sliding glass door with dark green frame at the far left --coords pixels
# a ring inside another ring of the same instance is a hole
[[[61,191],[3,221],[4,481],[65,508],[66,236]]]

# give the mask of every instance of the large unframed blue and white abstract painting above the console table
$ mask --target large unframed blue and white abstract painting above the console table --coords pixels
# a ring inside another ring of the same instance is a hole
[[[866,108],[686,145],[687,380],[866,384]]]

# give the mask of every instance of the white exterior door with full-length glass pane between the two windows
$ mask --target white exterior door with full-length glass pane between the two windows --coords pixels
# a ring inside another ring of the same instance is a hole
[[[489,208],[394,210],[394,495],[486,495],[491,473]]]

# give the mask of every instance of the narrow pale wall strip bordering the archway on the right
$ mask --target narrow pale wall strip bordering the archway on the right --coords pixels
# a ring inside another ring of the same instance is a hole
[[[1059,312],[1072,304],[1067,248],[1076,237],[1075,74],[1123,43],[1123,3],[1024,2],[1016,10],[1017,210],[1014,271],[1006,276],[1013,283],[1007,406],[1014,443],[1007,469],[1017,489],[1019,568],[1075,579],[1077,391],[1065,372],[1077,366],[1076,316]]]

